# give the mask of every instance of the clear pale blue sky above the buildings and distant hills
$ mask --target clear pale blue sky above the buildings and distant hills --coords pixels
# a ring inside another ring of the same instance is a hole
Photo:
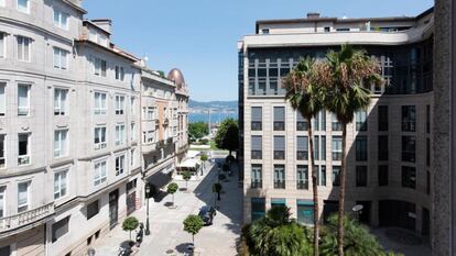
[[[178,67],[199,101],[237,100],[237,41],[262,19],[307,12],[348,18],[416,15],[433,0],[84,0],[88,19],[109,18],[113,43],[149,66]]]

